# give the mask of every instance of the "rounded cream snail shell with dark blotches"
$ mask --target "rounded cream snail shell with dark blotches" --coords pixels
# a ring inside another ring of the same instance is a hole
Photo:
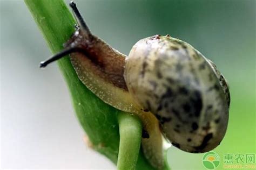
[[[191,45],[170,36],[139,40],[126,58],[124,77],[134,100],[158,118],[174,146],[201,153],[224,138],[227,83]]]

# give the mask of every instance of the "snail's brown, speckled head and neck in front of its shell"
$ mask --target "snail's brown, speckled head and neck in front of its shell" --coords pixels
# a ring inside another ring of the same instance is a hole
[[[78,29],[64,45],[65,48],[75,46],[80,49],[70,54],[79,79],[105,103],[126,112],[140,112],[124,80],[126,56],[92,34],[88,41],[81,36],[82,32]]]

